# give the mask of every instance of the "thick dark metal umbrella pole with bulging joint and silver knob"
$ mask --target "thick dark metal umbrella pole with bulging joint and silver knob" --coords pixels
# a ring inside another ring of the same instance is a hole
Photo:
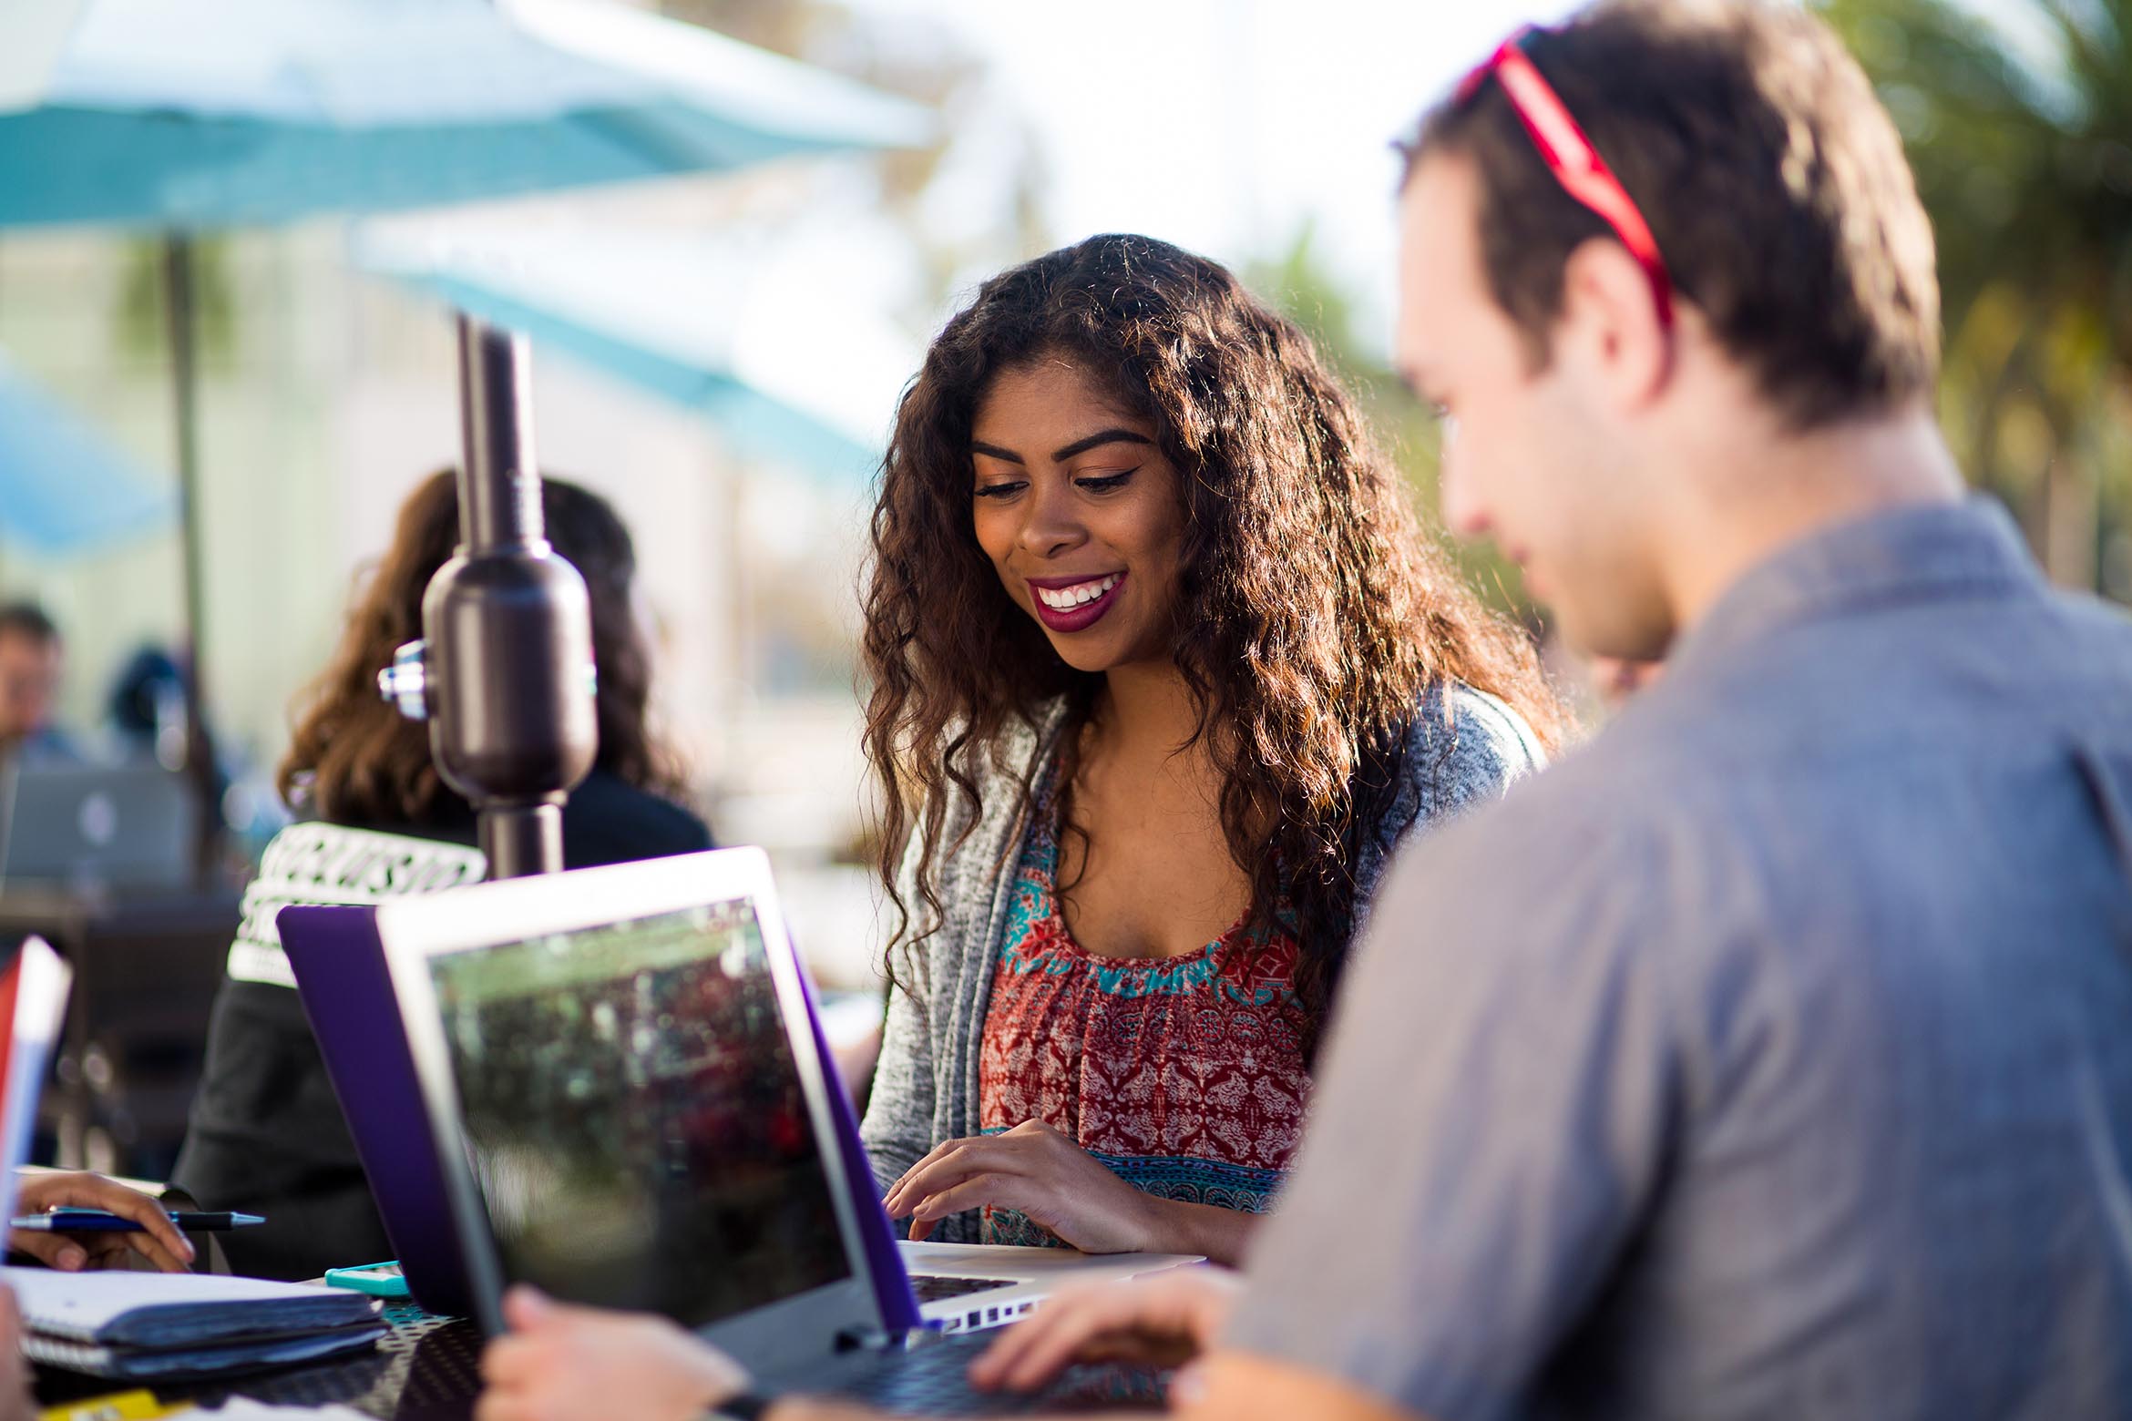
[[[524,337],[458,320],[458,550],[422,597],[422,641],[379,688],[429,720],[437,773],[480,822],[490,878],[563,867],[563,803],[593,769],[593,611],[548,545]]]

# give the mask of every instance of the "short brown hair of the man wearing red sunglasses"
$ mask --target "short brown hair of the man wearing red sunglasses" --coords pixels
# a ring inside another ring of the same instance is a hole
[[[1929,394],[1932,224],[1902,138],[1842,43],[1774,0],[1603,0],[1520,45],[1657,236],[1680,296],[1793,428]],[[1571,198],[1492,77],[1433,109],[1480,170],[1497,305],[1546,364],[1569,254],[1610,228]]]

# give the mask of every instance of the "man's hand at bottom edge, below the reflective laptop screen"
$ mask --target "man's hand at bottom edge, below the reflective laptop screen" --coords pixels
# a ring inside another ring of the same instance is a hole
[[[748,1385],[740,1363],[663,1317],[514,1287],[503,1321],[510,1336],[482,1353],[473,1421],[697,1421]]]

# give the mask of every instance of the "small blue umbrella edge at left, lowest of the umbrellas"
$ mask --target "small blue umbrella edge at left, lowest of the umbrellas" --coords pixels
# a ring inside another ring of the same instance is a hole
[[[0,543],[83,552],[175,520],[166,486],[0,356]]]

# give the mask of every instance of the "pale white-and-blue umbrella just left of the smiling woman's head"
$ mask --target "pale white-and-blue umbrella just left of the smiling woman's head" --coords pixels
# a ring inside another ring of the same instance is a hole
[[[819,273],[712,239],[371,224],[354,260],[693,409],[755,458],[834,484],[872,477],[921,356]]]

